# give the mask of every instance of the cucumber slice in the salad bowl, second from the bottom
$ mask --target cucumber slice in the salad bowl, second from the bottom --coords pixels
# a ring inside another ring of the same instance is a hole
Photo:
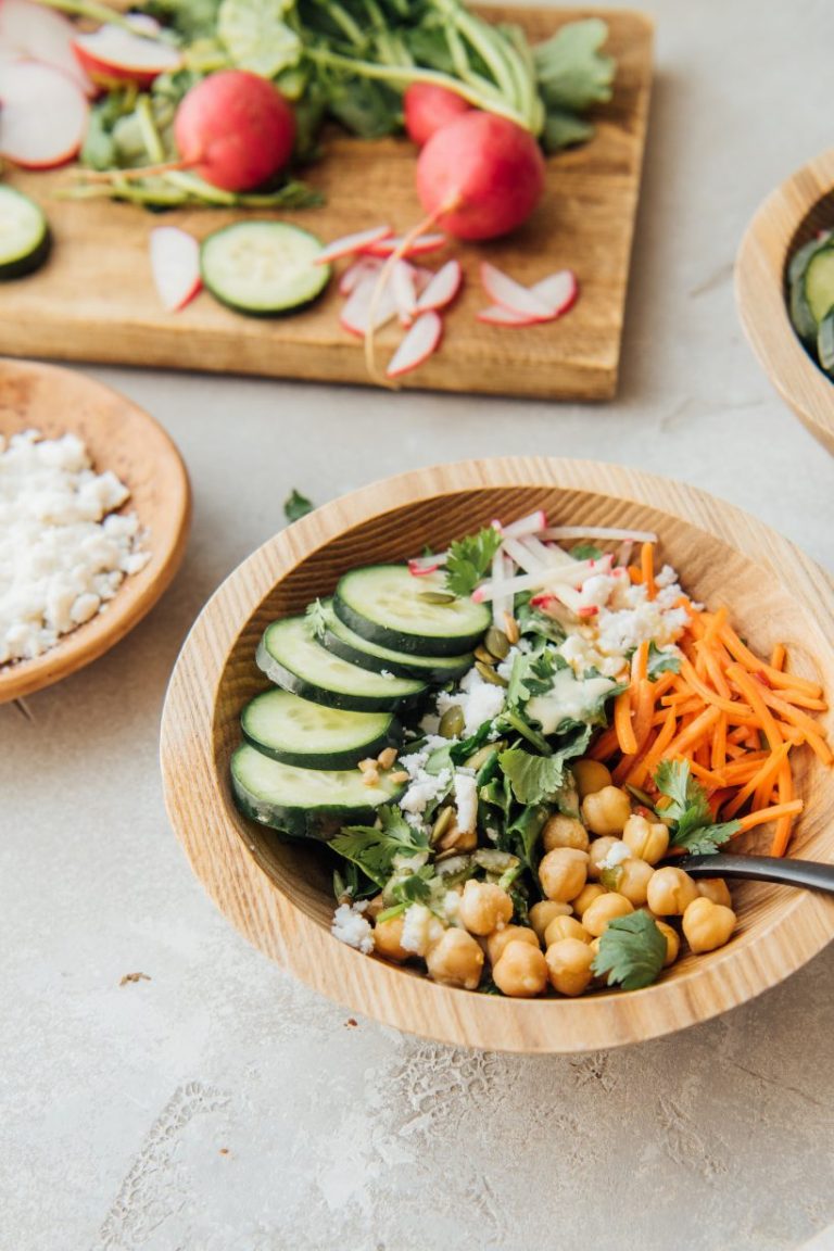
[[[350,769],[401,739],[389,712],[345,712],[299,699],[289,691],[265,691],[246,704],[244,738],[265,756],[308,769]]]

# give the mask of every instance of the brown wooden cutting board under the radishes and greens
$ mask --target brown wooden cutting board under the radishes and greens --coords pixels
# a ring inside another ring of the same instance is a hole
[[[586,10],[488,10],[546,39]],[[596,11],[595,11],[596,15]],[[636,13],[599,13],[609,24],[608,50],[618,59],[615,93],[599,108],[596,134],[583,148],[548,161],[548,188],[538,210],[511,238],[491,244],[451,243],[431,258],[458,255],[466,284],[445,319],[443,347],[404,385],[448,392],[609,399],[616,390],[625,291],[651,84],[651,24]],[[310,168],[324,206],[260,214],[296,221],[329,240],[389,221],[404,231],[421,216],[414,189],[414,146],[405,139],[371,143],[333,135],[325,159]],[[366,383],[361,344],[339,325],[335,283],[313,308],[291,317],[240,317],[201,293],[180,313],[155,294],[148,236],[160,221],[204,238],[244,213],[189,209],[164,218],[110,201],[71,201],[55,193],[73,171],[13,171],[9,181],[46,210],[55,245],[38,274],[0,288],[0,352],[56,360],[198,369],[215,373]],[[251,213],[249,215],[253,215]],[[479,276],[488,258],[525,283],[569,266],[580,298],[549,325],[501,328],[479,323],[490,301]],[[379,335],[388,359],[401,332]]]

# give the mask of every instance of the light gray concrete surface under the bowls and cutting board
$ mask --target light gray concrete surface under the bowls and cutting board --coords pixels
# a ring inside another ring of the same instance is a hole
[[[834,569],[834,462],[759,372],[731,293],[755,206],[831,141],[834,13],[646,8],[656,90],[613,404],[90,369],[171,430],[194,533],[128,639],[29,699],[31,721],[0,708],[3,1251],[830,1245],[833,950],[648,1046],[463,1053],[351,1026],[250,950],[160,794],[178,648],[291,487],[324,502],[474,454],[596,457],[706,488]]]

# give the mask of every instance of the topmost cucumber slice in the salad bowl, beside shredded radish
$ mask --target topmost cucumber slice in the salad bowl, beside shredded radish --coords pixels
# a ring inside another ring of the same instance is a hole
[[[441,573],[415,578],[404,564],[370,564],[339,579],[333,599],[349,629],[409,656],[460,656],[489,629],[485,604],[450,597]]]

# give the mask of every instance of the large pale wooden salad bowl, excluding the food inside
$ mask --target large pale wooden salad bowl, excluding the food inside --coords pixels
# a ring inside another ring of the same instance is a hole
[[[176,663],[163,714],[168,812],[220,909],[256,947],[353,1011],[411,1033],[495,1051],[579,1052],[638,1042],[723,1012],[774,986],[834,934],[834,899],[738,887],[740,927],[709,956],[686,956],[631,993],[519,1001],[466,993],[330,934],[323,854],[244,819],[229,787],[239,714],[265,686],[255,644],[275,617],[333,590],[341,572],[443,547],[493,517],[535,508],[558,523],[631,525],[661,535],[661,557],[710,607],[724,602],[751,644],[834,692],[834,594],[825,575],[754,518],[690,487],[588,462],[519,458],[416,470],[338,499],[265,543],[220,587]],[[833,718],[826,714],[830,731]],[[803,761],[796,854],[834,858],[834,774]],[[766,837],[766,836],[765,836]]]

